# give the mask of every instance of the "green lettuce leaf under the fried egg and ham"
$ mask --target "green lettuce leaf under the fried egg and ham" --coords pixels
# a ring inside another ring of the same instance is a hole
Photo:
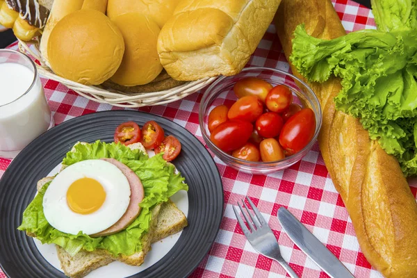
[[[63,165],[72,165],[79,161],[98,158],[115,158],[131,168],[142,181],[145,197],[140,202],[140,215],[126,229],[99,238],[90,238],[83,233],[65,234],[52,227],[44,217],[42,201],[49,183],[45,184],[23,213],[22,224],[17,228],[38,238],[42,243],[59,245],[74,256],[80,250],[107,250],[114,256],[129,256],[142,250],[142,237],[149,231],[152,208],[166,202],[179,190],[188,190],[181,174],[175,173],[175,167],[163,160],[162,154],[148,158],[139,150],[131,150],[124,145],[97,141],[93,144],[77,144],[75,152],[67,153]]]

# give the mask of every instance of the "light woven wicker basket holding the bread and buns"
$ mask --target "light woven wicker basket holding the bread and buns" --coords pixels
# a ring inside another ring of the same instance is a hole
[[[54,72],[52,72],[51,68],[47,65],[47,63],[45,63],[44,59],[40,55],[38,38],[35,38],[31,42],[23,42],[19,40],[19,51],[32,56],[36,60],[39,60],[40,65],[36,64],[36,67],[38,67],[38,72],[41,75],[47,77],[47,79],[63,83],[71,90],[79,93],[79,95],[91,99],[92,101],[97,101],[101,104],[111,104],[113,106],[124,108],[168,104],[170,102],[183,99],[184,97],[187,97],[188,95],[201,90],[202,88],[206,87],[206,85],[217,79],[217,77],[207,77],[197,81],[186,82],[177,87],[160,92],[126,93],[119,90],[103,89],[97,86],[82,85],[80,83],[64,79],[63,77],[54,74]]]

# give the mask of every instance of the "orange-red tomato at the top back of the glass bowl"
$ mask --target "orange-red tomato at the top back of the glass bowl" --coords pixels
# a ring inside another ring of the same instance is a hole
[[[272,85],[262,79],[257,79],[256,77],[246,77],[240,79],[234,85],[234,93],[238,99],[245,97],[247,95],[255,95],[265,103],[266,95],[272,89]]]

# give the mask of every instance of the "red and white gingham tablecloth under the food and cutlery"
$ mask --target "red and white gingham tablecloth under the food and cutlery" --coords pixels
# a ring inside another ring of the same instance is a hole
[[[333,1],[347,31],[375,28],[373,15],[368,8],[352,1]],[[16,49],[16,45],[11,47]],[[249,65],[288,71],[275,26],[268,28]],[[56,124],[95,111],[120,109],[85,99],[56,81],[42,79],[42,84]],[[173,120],[204,142],[198,124],[201,98],[202,93],[195,93],[171,104],[138,110]],[[317,145],[300,163],[268,176],[238,172],[224,165],[217,157],[215,162],[224,185],[224,216],[213,247],[190,277],[286,277],[286,272],[278,263],[259,255],[243,235],[232,205],[245,196],[252,199],[268,220],[278,238],[284,259],[300,277],[322,278],[327,275],[285,233],[281,233],[276,217],[279,206],[289,208],[355,277],[382,277],[371,268],[360,251],[352,222],[340,195],[334,189]],[[9,164],[9,160],[0,158],[0,177]],[[414,184],[411,190],[415,196],[417,182],[414,180],[411,183]],[[0,278],[3,277],[0,270]]]

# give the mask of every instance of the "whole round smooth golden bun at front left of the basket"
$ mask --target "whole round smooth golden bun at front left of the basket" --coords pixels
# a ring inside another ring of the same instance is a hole
[[[123,54],[122,33],[97,10],[77,10],[66,15],[49,36],[52,70],[84,85],[98,85],[113,76]]]

